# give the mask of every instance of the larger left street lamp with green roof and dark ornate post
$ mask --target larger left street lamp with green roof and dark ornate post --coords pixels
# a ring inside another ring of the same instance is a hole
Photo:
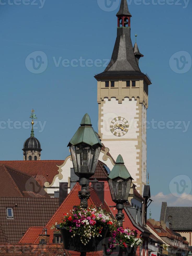
[[[71,151],[74,172],[79,177],[79,184],[81,185],[81,191],[79,191],[80,204],[83,208],[87,208],[90,197],[88,190],[89,178],[95,173],[102,147],[101,141],[92,128],[88,114],[84,115],[80,127],[68,146]]]

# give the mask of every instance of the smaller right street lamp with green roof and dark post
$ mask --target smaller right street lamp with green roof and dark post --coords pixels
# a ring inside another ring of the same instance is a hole
[[[125,218],[123,213],[124,203],[128,200],[132,180],[133,178],[125,167],[122,156],[119,155],[108,176],[112,200],[116,203],[118,211],[116,219],[119,226],[123,226],[123,219]]]

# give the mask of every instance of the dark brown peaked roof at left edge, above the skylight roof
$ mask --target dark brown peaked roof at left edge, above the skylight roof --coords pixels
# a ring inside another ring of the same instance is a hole
[[[30,175],[0,165],[2,197],[49,197],[39,183]]]

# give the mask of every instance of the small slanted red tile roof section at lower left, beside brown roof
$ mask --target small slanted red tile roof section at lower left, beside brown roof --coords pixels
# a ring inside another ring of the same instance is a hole
[[[41,234],[43,230],[43,227],[30,227],[28,228],[25,235],[21,238],[19,243],[25,244],[25,243],[34,243],[37,239],[37,236]]]

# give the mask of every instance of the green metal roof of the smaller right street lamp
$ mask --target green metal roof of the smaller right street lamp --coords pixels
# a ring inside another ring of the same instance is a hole
[[[116,164],[114,165],[112,171],[109,173],[108,178],[109,179],[115,179],[115,178],[122,178],[122,179],[128,179],[131,178],[130,173],[128,172],[127,168],[124,165],[124,161],[121,155],[118,155]]]

